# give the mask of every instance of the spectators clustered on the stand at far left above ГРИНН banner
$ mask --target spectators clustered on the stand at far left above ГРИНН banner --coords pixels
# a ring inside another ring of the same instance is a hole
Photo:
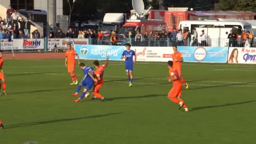
[[[6,11],[6,19],[0,16],[0,39],[25,39],[30,37],[31,21],[24,19],[11,5]],[[19,19],[20,18],[20,19]],[[40,38],[40,33],[35,30],[32,37]],[[38,37],[39,36],[39,37]]]

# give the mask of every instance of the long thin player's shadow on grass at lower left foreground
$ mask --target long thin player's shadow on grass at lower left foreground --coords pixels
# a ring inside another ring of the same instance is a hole
[[[118,115],[121,113],[123,113],[123,112],[109,113],[109,114],[105,114],[105,115],[93,115],[93,116],[88,116],[88,117],[77,117],[77,118],[67,118],[67,119],[59,119],[59,120],[38,121],[38,122],[31,122],[31,123],[18,123],[18,124],[13,124],[13,125],[6,125],[5,129],[27,127],[27,126],[32,126],[32,125],[43,125],[43,124],[48,124],[48,123],[59,123],[59,122],[63,122],[63,121],[82,120],[82,119],[96,118],[96,117],[107,117],[109,115]]]

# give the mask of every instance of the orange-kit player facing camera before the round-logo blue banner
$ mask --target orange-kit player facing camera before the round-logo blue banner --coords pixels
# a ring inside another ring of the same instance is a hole
[[[189,88],[189,85],[187,82],[184,80],[183,77],[181,77],[181,62],[183,62],[183,57],[180,52],[177,51],[177,46],[173,46],[173,51],[174,53],[172,54],[173,58],[173,67],[177,69],[179,77],[181,78],[181,82],[185,84],[186,88]]]

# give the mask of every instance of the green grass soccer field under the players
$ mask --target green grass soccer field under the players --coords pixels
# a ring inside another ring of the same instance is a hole
[[[92,66],[92,61],[83,61]],[[104,61],[101,61],[103,64]],[[189,112],[169,101],[165,63],[138,62],[128,87],[123,62],[110,61],[101,93],[74,103],[64,60],[7,60],[0,96],[0,144],[253,144],[256,67],[184,63]],[[83,72],[76,68],[78,79]],[[79,95],[80,96],[80,95]]]

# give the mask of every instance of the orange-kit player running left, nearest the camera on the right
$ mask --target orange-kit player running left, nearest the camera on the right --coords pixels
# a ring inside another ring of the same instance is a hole
[[[169,77],[167,77],[167,79],[170,83],[173,82],[173,87],[168,93],[168,98],[171,101],[179,104],[180,109],[181,107],[183,107],[185,112],[188,112],[189,109],[185,105],[183,99],[181,99],[182,85],[181,85],[180,77],[178,74],[178,70],[173,67],[173,61],[168,61],[168,68],[169,68]]]

